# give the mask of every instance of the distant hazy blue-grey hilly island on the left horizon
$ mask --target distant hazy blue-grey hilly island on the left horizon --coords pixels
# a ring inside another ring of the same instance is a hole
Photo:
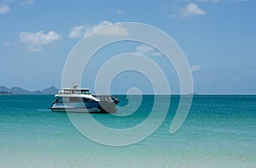
[[[56,87],[48,87],[42,91],[28,91],[26,89],[20,88],[20,87],[3,87],[0,86],[0,95],[53,95],[58,92],[58,89]]]

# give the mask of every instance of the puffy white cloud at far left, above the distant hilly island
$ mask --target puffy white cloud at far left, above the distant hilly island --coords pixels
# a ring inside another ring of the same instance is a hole
[[[26,44],[28,50],[32,52],[41,51],[44,45],[48,45],[58,40],[61,40],[61,35],[55,31],[49,31],[48,33],[44,33],[43,31],[20,32],[20,42]]]

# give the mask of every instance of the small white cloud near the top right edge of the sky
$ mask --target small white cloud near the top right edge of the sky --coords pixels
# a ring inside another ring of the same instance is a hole
[[[170,17],[181,17],[186,18],[189,16],[195,16],[195,15],[203,15],[206,14],[206,12],[199,8],[195,3],[189,3],[184,8],[177,8],[177,14],[171,14]]]

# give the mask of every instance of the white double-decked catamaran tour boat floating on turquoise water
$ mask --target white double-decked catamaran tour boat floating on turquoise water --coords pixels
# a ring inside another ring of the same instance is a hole
[[[62,88],[49,109],[53,112],[116,113],[119,99],[111,95],[92,95],[88,88]]]

